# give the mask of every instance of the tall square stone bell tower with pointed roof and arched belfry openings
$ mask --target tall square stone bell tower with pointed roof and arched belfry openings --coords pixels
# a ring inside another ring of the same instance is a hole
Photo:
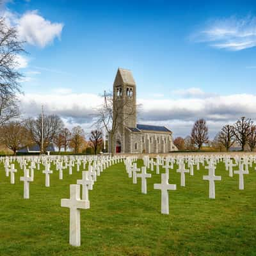
[[[113,84],[113,122],[116,122],[117,151],[124,152],[125,127],[136,127],[136,84],[132,72],[118,68]]]

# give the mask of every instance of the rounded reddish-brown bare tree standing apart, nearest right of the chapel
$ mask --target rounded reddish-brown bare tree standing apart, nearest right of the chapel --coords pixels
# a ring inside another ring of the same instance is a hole
[[[198,147],[198,150],[200,150],[204,143],[208,142],[208,127],[204,119],[196,120],[191,131],[191,138]]]

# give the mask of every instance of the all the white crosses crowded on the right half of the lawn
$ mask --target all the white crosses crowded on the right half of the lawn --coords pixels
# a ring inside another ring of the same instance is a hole
[[[128,177],[132,178],[132,183],[137,184],[137,178],[141,178],[141,193],[147,194],[147,179],[151,177],[150,173],[147,173],[147,168],[150,169],[150,171],[154,171],[154,165],[156,166],[156,173],[159,174],[159,165],[162,164],[163,168],[165,169],[165,173],[161,174],[161,184],[154,184],[154,189],[161,189],[161,213],[163,214],[169,214],[169,201],[168,201],[168,190],[176,189],[175,184],[169,184],[169,169],[173,169],[173,163],[178,164],[179,168],[177,168],[177,172],[180,173],[180,186],[184,187],[186,186],[185,182],[185,173],[189,173],[190,175],[194,175],[194,165],[196,164],[197,170],[200,170],[200,164],[204,166],[205,169],[208,169],[208,175],[203,176],[203,180],[209,181],[209,198],[214,199],[215,198],[215,181],[221,180],[221,176],[215,175],[215,169],[216,164],[220,163],[220,161],[225,161],[226,168],[231,168],[233,166],[237,166],[237,164],[232,164],[232,159],[225,159],[223,156],[196,156],[193,158],[192,156],[184,157],[184,156],[178,156],[178,157],[166,157],[165,164],[163,157],[157,156],[156,163],[154,162],[154,159],[150,159],[148,156],[143,157],[143,164],[145,166],[142,166],[141,168],[137,168],[137,164],[132,162],[132,159],[127,157],[125,160],[125,166],[128,173]],[[188,163],[187,170],[185,168],[185,163]],[[248,164],[252,167],[252,163],[255,163],[255,157],[236,157],[237,163],[239,163],[239,170],[234,171],[235,174],[239,175],[239,189],[244,189],[244,180],[243,175],[248,174]],[[205,166],[205,162],[207,165]],[[231,167],[230,167],[231,166]],[[244,166],[246,166],[245,170],[243,169]],[[256,169],[256,168],[255,168]],[[141,173],[138,173],[140,172]],[[230,172],[230,177],[231,173]]]

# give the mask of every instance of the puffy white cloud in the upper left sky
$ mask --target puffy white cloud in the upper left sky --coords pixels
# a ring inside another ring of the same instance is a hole
[[[9,26],[16,26],[20,40],[44,48],[61,37],[63,23],[51,22],[38,14],[37,10],[22,15],[4,10],[3,17]]]

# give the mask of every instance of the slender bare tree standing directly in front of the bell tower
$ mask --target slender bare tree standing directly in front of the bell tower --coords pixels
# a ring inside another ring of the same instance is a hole
[[[108,143],[111,147],[111,154],[115,153],[115,137],[118,129],[122,127],[125,120],[130,118],[134,113],[136,113],[136,107],[131,105],[131,100],[122,95],[122,100],[118,101],[118,104],[114,104],[113,95],[108,93],[105,96],[105,102],[97,109],[97,120],[95,125],[97,127],[105,128],[108,132]]]

